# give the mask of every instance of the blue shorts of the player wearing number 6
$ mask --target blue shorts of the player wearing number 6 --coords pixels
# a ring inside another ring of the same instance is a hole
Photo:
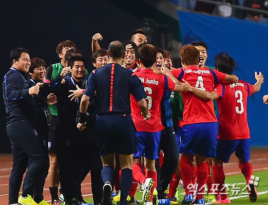
[[[158,148],[161,138],[161,131],[146,132],[137,131],[138,147],[134,158],[139,158],[143,153],[144,157],[150,160],[158,159]]]

